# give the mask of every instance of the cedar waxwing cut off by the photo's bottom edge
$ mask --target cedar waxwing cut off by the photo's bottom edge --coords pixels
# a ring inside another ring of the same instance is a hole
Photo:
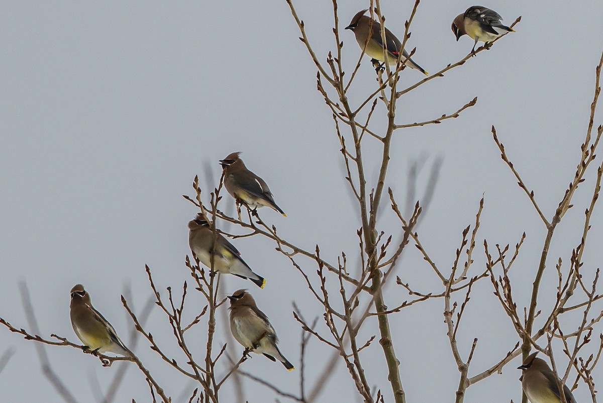
[[[535,352],[529,355],[523,361],[523,365],[517,369],[523,371],[522,389],[532,403],[560,403],[559,387],[557,386],[557,376],[549,368],[545,360],[536,358]],[[576,403],[572,392],[567,386],[563,386],[567,403]]]

